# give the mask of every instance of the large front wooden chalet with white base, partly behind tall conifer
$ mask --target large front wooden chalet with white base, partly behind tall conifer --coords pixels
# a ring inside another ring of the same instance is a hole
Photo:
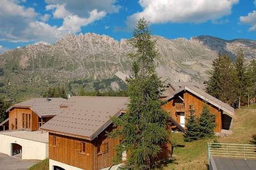
[[[111,116],[126,111],[127,97],[69,98],[60,114],[41,126],[49,132],[50,169],[105,169],[113,165],[115,146],[119,139],[108,138],[113,130]],[[123,154],[125,160],[126,154]],[[157,160],[171,157],[171,145],[166,143]]]

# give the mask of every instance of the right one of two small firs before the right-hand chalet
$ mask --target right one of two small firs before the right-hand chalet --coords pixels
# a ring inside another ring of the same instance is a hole
[[[210,113],[209,107],[203,106],[202,114],[198,118],[198,125],[201,132],[200,138],[211,137],[213,135],[215,124],[215,115]]]

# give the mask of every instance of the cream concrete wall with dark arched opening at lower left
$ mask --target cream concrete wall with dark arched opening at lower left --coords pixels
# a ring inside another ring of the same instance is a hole
[[[0,152],[12,156],[11,143],[22,146],[22,159],[43,160],[48,158],[48,143],[0,134]]]

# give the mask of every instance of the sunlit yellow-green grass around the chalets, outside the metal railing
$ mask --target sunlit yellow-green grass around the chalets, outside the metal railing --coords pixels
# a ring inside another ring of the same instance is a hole
[[[256,105],[250,108],[243,107],[236,110],[233,121],[233,134],[227,137],[218,137],[221,143],[250,144],[252,134],[256,134]],[[173,140],[179,145],[174,148],[173,162],[167,164],[164,170],[206,170],[207,142],[213,139],[204,139],[193,142],[184,142],[182,133],[174,133]],[[49,170],[49,159],[43,160],[29,170]]]

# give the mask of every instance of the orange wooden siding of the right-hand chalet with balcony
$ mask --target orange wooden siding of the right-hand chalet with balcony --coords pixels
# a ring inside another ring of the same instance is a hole
[[[183,103],[185,104],[185,118],[187,122],[187,118],[189,115],[189,106],[194,105],[195,108],[195,115],[199,116],[202,114],[204,101],[195,96],[194,94],[191,94],[190,92],[186,91],[182,94],[183,97]],[[180,123],[180,112],[175,112],[175,103],[180,103],[180,100],[177,96],[170,99],[166,104],[163,105],[163,109],[170,113],[171,117],[174,118],[174,120],[177,121],[177,123]],[[217,124],[216,128],[214,129],[214,132],[220,132],[222,129],[222,111],[218,109],[217,107],[207,103],[207,106],[210,109],[210,112],[215,115],[215,123]]]

